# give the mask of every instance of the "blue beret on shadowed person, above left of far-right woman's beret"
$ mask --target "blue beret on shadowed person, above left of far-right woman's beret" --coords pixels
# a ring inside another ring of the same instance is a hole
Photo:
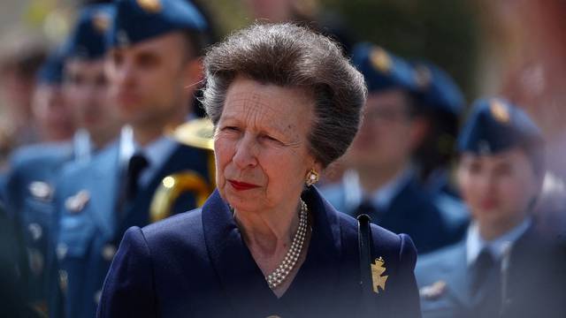
[[[450,76],[431,63],[415,64],[419,100],[433,110],[442,110],[456,117],[463,113],[465,100],[462,91]]]

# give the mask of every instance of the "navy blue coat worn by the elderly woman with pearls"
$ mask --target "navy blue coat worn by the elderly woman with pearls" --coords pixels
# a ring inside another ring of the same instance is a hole
[[[358,317],[362,307],[357,222],[316,189],[302,195],[313,217],[306,260],[278,299],[265,282],[218,192],[202,209],[126,231],[106,277],[98,317]],[[406,235],[371,226],[385,291],[368,304],[379,317],[419,317]],[[369,265],[369,264],[368,264]],[[373,315],[373,314],[372,314]]]

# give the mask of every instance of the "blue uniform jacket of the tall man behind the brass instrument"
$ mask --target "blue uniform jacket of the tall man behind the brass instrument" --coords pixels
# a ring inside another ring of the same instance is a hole
[[[53,247],[55,277],[50,284],[53,317],[93,317],[103,279],[119,240],[130,226],[149,223],[149,205],[162,179],[175,172],[194,170],[208,180],[204,150],[178,145],[149,185],[128,207],[118,210],[123,179],[119,143],[112,144],[88,164],[65,167],[58,183],[57,233]],[[181,196],[172,214],[195,208],[192,195]]]

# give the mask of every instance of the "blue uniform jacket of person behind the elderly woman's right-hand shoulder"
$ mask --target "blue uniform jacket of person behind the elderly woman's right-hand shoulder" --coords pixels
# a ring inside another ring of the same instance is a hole
[[[323,190],[325,197],[336,209],[354,216],[347,207],[346,189],[342,184]],[[352,207],[356,208],[356,207]],[[448,216],[437,208],[432,197],[424,192],[415,178],[410,178],[380,216],[371,216],[372,222],[394,233],[406,233],[413,239],[419,254],[431,252],[441,246],[455,243],[463,237],[467,217]]]

